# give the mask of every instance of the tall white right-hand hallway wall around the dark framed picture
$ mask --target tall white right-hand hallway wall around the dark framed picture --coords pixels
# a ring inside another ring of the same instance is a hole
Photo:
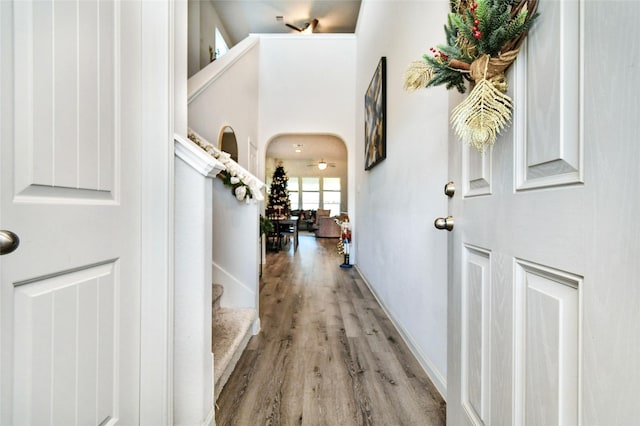
[[[447,376],[446,216],[448,96],[407,93],[406,66],[445,42],[448,2],[363,1],[357,28],[356,220],[358,268],[445,394]],[[363,98],[387,57],[387,158],[364,171]]]

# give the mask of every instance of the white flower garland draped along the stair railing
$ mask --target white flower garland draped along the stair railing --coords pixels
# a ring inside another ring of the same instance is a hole
[[[189,130],[188,138],[211,155],[216,160],[224,164],[225,170],[218,173],[224,184],[231,188],[231,193],[238,201],[249,201],[253,198],[257,201],[264,200],[260,192],[261,184],[256,178],[248,174],[238,163],[231,159],[231,155],[219,150],[210,143],[204,141],[193,131]]]

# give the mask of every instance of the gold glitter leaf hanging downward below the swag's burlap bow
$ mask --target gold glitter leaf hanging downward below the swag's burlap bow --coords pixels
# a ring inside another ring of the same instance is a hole
[[[451,124],[458,137],[480,152],[493,145],[510,120],[511,98],[484,78],[451,112]]]

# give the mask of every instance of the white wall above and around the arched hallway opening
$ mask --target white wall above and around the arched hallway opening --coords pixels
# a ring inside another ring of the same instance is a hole
[[[264,176],[266,146],[274,137],[292,133],[331,134],[347,146],[349,193],[354,193],[355,57],[353,35],[261,36],[260,176]],[[349,197],[346,209],[351,214],[355,211],[353,199]],[[352,258],[355,260],[355,254]]]

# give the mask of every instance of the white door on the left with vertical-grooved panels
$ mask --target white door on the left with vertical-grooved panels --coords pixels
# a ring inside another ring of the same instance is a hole
[[[140,5],[0,4],[0,423],[135,424]]]

